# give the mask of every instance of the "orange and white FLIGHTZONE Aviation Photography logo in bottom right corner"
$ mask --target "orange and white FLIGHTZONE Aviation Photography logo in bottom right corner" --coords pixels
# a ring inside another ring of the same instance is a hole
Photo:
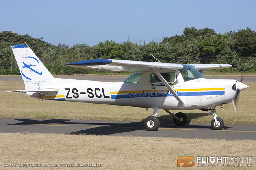
[[[194,162],[196,159],[196,162]],[[177,166],[197,167],[252,167],[253,156],[197,156],[179,157]]]

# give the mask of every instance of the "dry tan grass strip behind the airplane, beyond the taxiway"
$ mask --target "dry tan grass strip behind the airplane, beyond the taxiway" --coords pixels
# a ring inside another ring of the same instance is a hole
[[[226,104],[224,109],[217,107],[217,115],[225,124],[256,124],[256,83],[247,82],[249,86],[241,91],[234,112],[232,103]],[[113,106],[79,102],[49,101],[29,97],[22,93],[6,93],[11,90],[22,90],[22,81],[0,81],[0,117],[12,118],[44,118],[44,119],[97,119],[115,121],[143,121],[153,110],[147,112],[145,108],[127,106]],[[190,122],[210,123],[213,116],[200,110],[171,110],[173,113],[184,112]],[[193,114],[192,114],[193,113]],[[172,117],[163,110],[159,110],[158,118],[161,122],[172,122]]]

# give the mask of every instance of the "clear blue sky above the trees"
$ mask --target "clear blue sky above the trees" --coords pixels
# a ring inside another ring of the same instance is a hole
[[[94,46],[128,37],[148,43],[182,35],[185,27],[256,30],[254,0],[0,0],[0,7],[1,32],[43,37],[55,45]]]

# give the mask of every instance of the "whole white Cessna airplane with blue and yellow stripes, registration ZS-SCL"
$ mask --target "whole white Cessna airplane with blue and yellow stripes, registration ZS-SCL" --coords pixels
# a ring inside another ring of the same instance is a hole
[[[157,130],[159,109],[173,116],[177,126],[187,123],[184,113],[169,110],[210,110],[213,129],[224,122],[215,107],[237,99],[248,86],[237,80],[205,79],[207,69],[228,68],[228,64],[169,64],[159,62],[96,59],[67,64],[99,71],[135,72],[123,82],[100,82],[54,78],[28,44],[11,46],[25,84],[21,92],[39,99],[88,102],[153,108],[153,115],[144,121],[147,130]],[[200,71],[200,73],[198,72]],[[208,114],[210,114],[208,113]]]

